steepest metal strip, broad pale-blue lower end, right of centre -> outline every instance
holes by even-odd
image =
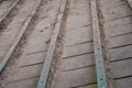
[[[99,21],[98,21],[98,14],[97,14],[97,1],[91,0],[90,2],[91,2],[94,46],[95,46],[98,88],[108,88],[108,82],[107,82],[107,77],[105,72],[105,61],[102,55],[101,40],[100,40]]]

